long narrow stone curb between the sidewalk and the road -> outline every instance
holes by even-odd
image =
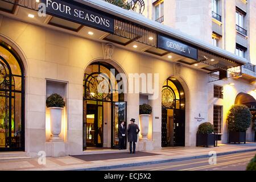
[[[218,153],[217,156],[229,155],[229,154],[237,154],[237,153],[243,153],[243,152],[251,152],[251,151],[256,151],[256,148],[247,149],[247,150],[240,150],[240,151],[221,152],[221,153]],[[166,160],[155,160],[155,161],[150,161],[150,162],[139,162],[139,163],[131,163],[131,164],[118,164],[118,165],[114,165],[114,166],[101,166],[101,167],[79,168],[79,169],[70,169],[70,170],[71,171],[101,171],[101,170],[107,170],[107,169],[145,166],[145,165],[150,165],[150,164],[180,162],[180,161],[184,161],[184,160],[201,159],[201,158],[209,158],[209,155],[198,155],[198,156],[189,156],[189,157],[184,157],[184,158],[174,158],[174,159],[166,159]]]

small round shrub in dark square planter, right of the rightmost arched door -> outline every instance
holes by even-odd
[[[196,146],[215,146],[215,135],[213,125],[210,122],[201,123],[196,134]]]

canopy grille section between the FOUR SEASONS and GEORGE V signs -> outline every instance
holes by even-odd
[[[148,46],[156,47],[156,32],[134,23],[115,19],[114,34],[139,43],[147,44]]]

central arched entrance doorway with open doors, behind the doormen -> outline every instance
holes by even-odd
[[[118,149],[118,126],[122,121],[125,121],[126,126],[126,102],[120,91],[122,78],[115,80],[117,74],[117,70],[105,62],[92,63],[86,68],[84,150],[91,147]],[[114,80],[110,81],[110,78]]]

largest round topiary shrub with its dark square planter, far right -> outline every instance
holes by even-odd
[[[246,130],[251,124],[251,113],[245,105],[233,105],[228,112],[229,143],[245,143]]]

